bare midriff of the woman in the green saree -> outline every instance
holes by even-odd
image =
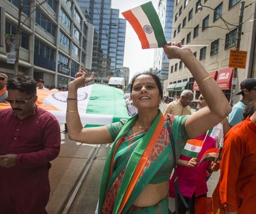
[[[165,198],[169,191],[169,182],[165,181],[158,184],[148,184],[139,197],[134,201],[136,207],[150,207]]]

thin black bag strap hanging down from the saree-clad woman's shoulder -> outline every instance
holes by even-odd
[[[167,129],[169,132],[169,137],[171,139],[171,149],[173,151],[173,168],[174,168],[174,185],[175,185],[175,213],[178,214],[178,205],[177,205],[177,194],[180,195],[180,198],[184,204],[184,206],[186,207],[186,210],[188,210],[188,203],[186,202],[184,196],[182,196],[182,193],[180,192],[180,187],[179,187],[179,183],[177,182],[177,172],[176,172],[176,153],[175,153],[175,143],[174,143],[174,139],[173,139],[173,133],[171,132],[171,128],[170,128],[170,120],[168,119],[168,125],[167,125]]]

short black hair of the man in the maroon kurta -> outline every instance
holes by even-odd
[[[16,76],[7,82],[7,90],[18,90],[29,96],[36,95],[37,82],[31,76]]]

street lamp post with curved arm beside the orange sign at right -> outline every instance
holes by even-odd
[[[214,10],[212,7],[208,7],[208,6],[201,5],[201,4],[199,5],[199,7],[197,7],[197,9],[199,11],[201,11],[201,10],[203,10],[203,7],[209,8],[209,9],[213,10],[214,12],[216,12],[216,10]],[[218,16],[221,18],[221,20],[223,20],[223,22],[225,23],[225,25],[226,25],[227,29],[229,30],[229,32],[230,32],[229,25],[231,25],[233,27],[236,27],[238,29],[238,33],[237,33],[237,36],[236,36],[236,50],[240,50],[240,42],[241,42],[241,35],[242,35],[242,20],[243,20],[243,16],[244,16],[244,8],[245,8],[244,7],[244,1],[242,1],[240,3],[240,14],[239,14],[238,25],[233,25],[233,24],[227,22],[221,16],[221,14],[218,14],[218,12],[216,12],[216,14],[218,14]],[[230,100],[229,100],[229,104],[231,106],[233,106],[233,100],[234,100],[234,97],[235,97],[236,84],[234,84],[234,83],[237,82],[237,80],[236,80],[237,76],[238,76],[238,68],[234,67],[234,69],[233,69],[233,80],[232,80],[232,85],[231,85],[231,95],[230,95]]]

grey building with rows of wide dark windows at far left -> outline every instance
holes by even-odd
[[[76,0],[3,0],[1,7],[5,8],[2,33],[16,37],[20,32],[18,63],[7,63],[8,45],[0,47],[2,72],[67,87],[81,67],[91,69],[94,26],[87,22]]]

